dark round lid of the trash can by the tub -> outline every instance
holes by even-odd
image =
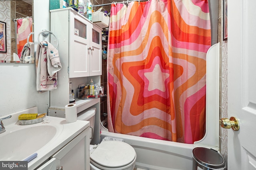
[[[224,168],[225,160],[216,150],[198,147],[192,151],[192,156],[196,162],[207,168]]]

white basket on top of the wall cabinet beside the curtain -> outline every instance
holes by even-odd
[[[92,22],[101,28],[106,28],[109,24],[109,16],[104,12],[93,12]]]

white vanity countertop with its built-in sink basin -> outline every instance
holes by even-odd
[[[37,155],[28,162],[28,170],[34,170],[49,160],[58,150],[89,127],[88,121],[77,120],[67,123],[64,118],[50,116],[46,116],[48,121],[19,125],[18,116],[22,113],[37,113],[37,107],[10,114],[12,115],[10,119],[2,121],[6,131],[0,133],[0,160],[20,161],[32,154]]]

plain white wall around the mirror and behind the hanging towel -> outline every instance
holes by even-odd
[[[34,1],[35,48],[42,29],[50,30],[49,0]],[[36,91],[35,64],[0,63],[0,117],[33,106],[47,113],[49,99],[49,92]]]

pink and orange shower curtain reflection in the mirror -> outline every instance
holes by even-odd
[[[32,18],[24,18],[17,20],[17,30],[16,30],[16,41],[17,41],[17,54],[20,58],[22,49],[27,43],[28,35],[32,32]],[[32,37],[29,38],[32,41]]]

